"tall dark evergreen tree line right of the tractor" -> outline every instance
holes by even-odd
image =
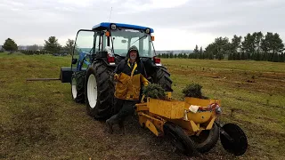
[[[217,37],[215,41],[205,48],[194,48],[193,52],[159,54],[160,58],[188,58],[188,59],[209,59],[209,60],[266,60],[274,62],[284,62],[285,49],[281,37],[277,33],[254,32],[244,36],[234,35],[229,40],[228,37]]]

